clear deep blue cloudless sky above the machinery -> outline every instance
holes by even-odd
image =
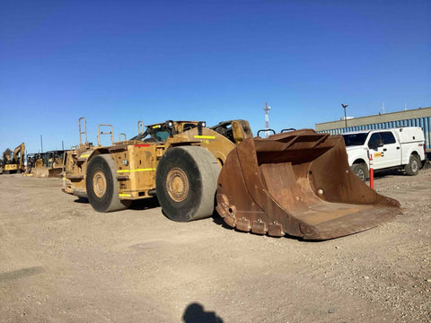
[[[2,1],[0,153],[110,123],[314,128],[431,106],[431,1]]]

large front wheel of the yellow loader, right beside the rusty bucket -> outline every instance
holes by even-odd
[[[189,222],[214,212],[220,166],[207,149],[174,147],[164,153],[156,174],[157,199],[173,221]]]

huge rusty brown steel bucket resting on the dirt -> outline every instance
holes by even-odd
[[[249,138],[229,153],[216,210],[240,231],[328,240],[401,214],[400,203],[356,177],[342,136],[303,129]]]

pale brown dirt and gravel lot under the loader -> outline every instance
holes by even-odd
[[[2,322],[431,321],[431,170],[375,180],[406,208],[322,242],[99,214],[61,179],[0,176]]]

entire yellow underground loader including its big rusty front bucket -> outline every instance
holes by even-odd
[[[306,240],[364,231],[400,214],[398,201],[352,173],[340,135],[303,129],[253,137],[246,120],[214,127],[168,120],[145,131],[139,121],[137,131],[114,142],[113,127],[99,125],[94,146],[80,118],[80,144],[66,152],[63,191],[88,197],[98,212],[157,196],[163,214],[177,222],[209,217],[216,206],[240,231]],[[101,145],[101,135],[110,135],[111,144]]]

